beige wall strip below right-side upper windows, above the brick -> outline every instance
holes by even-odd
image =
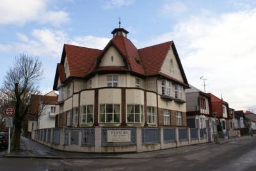
[[[177,103],[174,100],[166,101],[166,100],[163,100],[161,96],[158,96],[158,107],[166,108],[170,110],[177,110],[180,112],[186,112],[186,103]]]

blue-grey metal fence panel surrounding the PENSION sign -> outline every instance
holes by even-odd
[[[108,142],[108,131],[110,130],[128,130],[131,132],[130,142]],[[135,145],[136,144],[136,128],[102,128],[101,145],[114,146],[114,145]]]

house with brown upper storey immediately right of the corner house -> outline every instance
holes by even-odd
[[[211,117],[211,96],[189,85],[186,89],[187,123],[189,128],[212,128],[215,119]]]

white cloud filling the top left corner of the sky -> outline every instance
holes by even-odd
[[[38,22],[59,26],[68,21],[67,12],[47,10],[48,7],[48,0],[2,0],[0,25]]]

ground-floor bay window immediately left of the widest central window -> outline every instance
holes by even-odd
[[[93,105],[81,106],[81,124],[93,123]]]

